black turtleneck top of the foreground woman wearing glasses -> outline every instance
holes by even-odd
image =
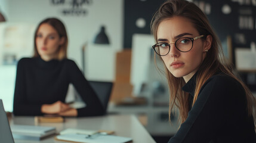
[[[194,96],[196,74],[183,86]],[[248,116],[245,90],[224,73],[215,74],[202,86],[188,117],[168,143],[256,142],[254,119]]]

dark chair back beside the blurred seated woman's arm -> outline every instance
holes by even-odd
[[[109,104],[109,98],[112,92],[112,82],[98,82],[98,81],[88,81],[95,93],[100,98],[101,104],[104,108],[104,114],[107,112],[107,105]]]

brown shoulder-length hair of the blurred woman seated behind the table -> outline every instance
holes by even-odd
[[[64,43],[62,45],[60,45],[60,47],[58,48],[58,51],[57,51],[57,60],[62,60],[63,58],[67,58],[67,41],[68,41],[67,32],[66,32],[64,24],[57,18],[47,18],[38,24],[38,27],[36,28],[36,32],[35,32],[35,36],[34,36],[34,55],[33,55],[33,57],[40,57],[40,55],[38,53],[38,49],[36,48],[36,35],[38,33],[39,27],[44,23],[47,23],[47,24],[50,24],[51,26],[53,26],[53,28],[58,32],[58,36],[60,36],[60,38],[64,38]]]

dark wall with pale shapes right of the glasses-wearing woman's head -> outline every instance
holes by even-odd
[[[256,42],[255,30],[255,17],[256,17],[256,4],[252,1],[236,2],[235,0],[202,0],[194,1],[198,6],[200,2],[211,5],[211,13],[206,14],[212,27],[215,29],[221,42],[225,42],[228,35],[232,38],[232,51],[233,55],[235,48],[249,48],[251,42]],[[224,14],[222,8],[224,5],[229,5],[231,13]],[[202,9],[202,8],[201,8]],[[240,20],[240,17],[245,18]],[[252,18],[252,29],[249,28],[248,18]],[[223,45],[224,48],[225,45]],[[235,56],[233,56],[233,63],[235,64]]]

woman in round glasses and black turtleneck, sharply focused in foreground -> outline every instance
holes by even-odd
[[[155,13],[153,49],[165,64],[172,142],[256,142],[255,98],[233,73],[206,15],[192,2],[166,1]]]

